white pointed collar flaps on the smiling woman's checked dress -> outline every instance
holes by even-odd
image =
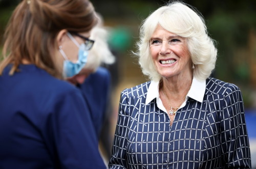
[[[193,77],[191,87],[187,93],[187,96],[199,102],[203,102],[205,89],[206,89],[206,80],[199,80],[196,77]],[[155,98],[157,98],[157,101],[160,99],[159,81],[151,81],[150,87],[148,87],[148,90],[147,90],[145,104],[150,103]]]

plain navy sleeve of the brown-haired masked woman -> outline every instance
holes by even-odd
[[[60,168],[106,168],[98,150],[98,142],[81,93],[74,89],[57,98],[48,120],[48,145]],[[57,158],[57,159],[56,159]]]

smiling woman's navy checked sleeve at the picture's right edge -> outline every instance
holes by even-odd
[[[237,86],[229,89],[224,96],[221,121],[222,159],[225,168],[251,168],[242,94]]]

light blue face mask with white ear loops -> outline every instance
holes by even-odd
[[[68,36],[70,37],[71,35],[68,33]],[[62,50],[61,46],[59,47],[59,51],[60,51],[61,55],[63,56],[63,58],[65,59],[65,61],[63,62],[63,76],[64,77],[72,77],[72,76],[78,74],[82,70],[84,65],[86,65],[87,58],[88,58],[88,50],[85,49],[86,46],[84,45],[84,43],[79,45],[73,37],[71,38],[71,40],[73,42],[75,41],[74,43],[77,46],[79,46],[78,60],[76,63],[69,61],[65,52]]]

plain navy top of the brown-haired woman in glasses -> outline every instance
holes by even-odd
[[[106,168],[74,86],[34,65],[0,76],[0,168]]]

